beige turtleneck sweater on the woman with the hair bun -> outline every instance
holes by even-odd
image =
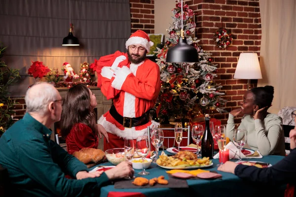
[[[282,118],[275,114],[267,114],[264,121],[254,120],[250,115],[242,118],[238,129],[247,130],[247,144],[253,150],[259,150],[265,155],[285,156],[285,137],[282,127]],[[233,140],[234,116],[229,113],[226,136]]]

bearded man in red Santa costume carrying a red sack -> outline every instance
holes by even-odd
[[[153,42],[147,33],[138,30],[125,46],[127,53],[116,51],[97,62],[98,87],[107,99],[113,100],[111,109],[98,120],[108,132],[105,150],[122,148],[124,138],[147,135],[148,126],[159,125],[149,120],[149,110],[161,87],[159,66],[146,59]]]

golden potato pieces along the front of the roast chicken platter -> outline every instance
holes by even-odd
[[[156,160],[156,164],[161,166],[179,166],[179,165],[195,165],[195,166],[203,166],[203,165],[210,165],[212,161],[208,157],[204,157],[202,159],[195,159],[195,160],[186,160],[186,159],[179,159],[168,157],[166,155],[161,155]]]

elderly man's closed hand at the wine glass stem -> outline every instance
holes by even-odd
[[[132,163],[130,162],[121,162],[120,164],[112,167],[109,170],[105,171],[106,175],[108,176],[109,180],[113,179],[120,179],[127,176],[134,176],[134,169],[132,167]]]

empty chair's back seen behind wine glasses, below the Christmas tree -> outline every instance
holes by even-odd
[[[164,134],[164,142],[165,141],[167,141],[167,144],[162,144],[162,149],[164,150],[164,146],[166,146],[167,145],[167,148],[170,148],[170,141],[172,141],[172,140],[170,140],[170,139],[173,139],[174,140],[174,143],[172,144],[172,145],[175,145],[175,128],[159,128],[159,129],[161,129],[161,130],[163,130],[164,132],[163,132],[163,134]],[[148,133],[148,142],[149,142],[149,144],[151,143],[150,142],[150,139],[151,139],[151,130],[152,129],[150,129],[149,127],[147,127],[147,133]],[[166,132],[165,132],[166,131]],[[182,141],[183,141],[183,139],[185,138],[185,139],[187,139],[187,146],[190,144],[190,135],[191,135],[191,131],[190,131],[190,126],[188,126],[188,127],[186,127],[186,128],[182,128],[182,131],[184,132],[184,131],[187,131],[187,136],[183,136],[182,137]],[[173,132],[173,134],[171,135],[171,136],[166,136],[165,134],[166,133],[169,133],[169,132]],[[167,140],[165,140],[165,139],[167,139]],[[182,142],[181,142],[182,143]],[[172,146],[171,145],[171,146]]]

